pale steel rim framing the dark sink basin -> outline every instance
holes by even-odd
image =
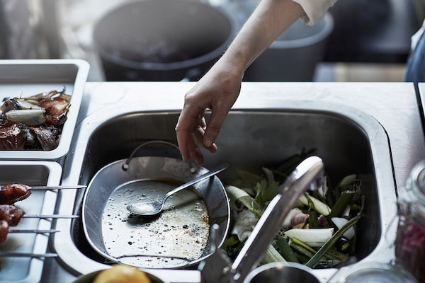
[[[115,111],[113,111],[115,113],[115,115],[108,117],[108,115],[111,114],[111,108],[113,107],[113,109]],[[119,111],[117,112],[116,110]],[[230,110],[230,112],[249,112],[249,111],[254,111],[254,112],[258,112],[258,111],[263,111],[263,112],[287,112],[287,111],[310,111],[310,112],[324,112],[326,114],[329,115],[334,115],[334,116],[338,116],[338,117],[342,117],[344,119],[348,118],[349,120],[351,120],[353,122],[353,124],[358,125],[358,127],[365,129],[366,132],[370,133],[370,134],[375,134],[375,138],[378,139],[380,141],[380,145],[379,146],[375,146],[373,144],[370,144],[370,150],[371,150],[371,154],[373,156],[374,159],[380,159],[380,161],[382,161],[382,167],[380,168],[374,168],[375,170],[375,175],[377,176],[377,180],[378,179],[382,179],[384,180],[382,183],[377,184],[378,186],[382,186],[382,187],[387,187],[386,190],[388,191],[392,191],[394,192],[394,200],[395,200],[395,180],[386,180],[386,178],[384,178],[383,176],[385,176],[385,172],[387,174],[390,174],[393,176],[394,178],[394,173],[392,172],[392,160],[391,160],[391,155],[390,155],[390,143],[388,141],[388,137],[387,137],[387,133],[385,132],[385,128],[380,124],[380,122],[378,122],[377,119],[375,119],[375,117],[373,117],[373,115],[368,114],[367,112],[364,112],[362,110],[359,110],[358,108],[354,108],[348,105],[342,105],[341,103],[331,103],[329,101],[323,102],[323,101],[317,101],[317,100],[284,100],[284,104],[283,106],[280,105],[276,105],[274,107],[264,107],[264,105],[258,105],[258,107],[252,107],[252,108],[237,108],[234,110]],[[86,131],[91,131],[93,129],[96,129],[96,127],[98,127],[99,125],[101,125],[102,122],[104,121],[104,117],[108,117],[109,119],[113,119],[113,117],[118,117],[120,115],[126,115],[126,114],[130,114],[132,112],[146,112],[146,114],[152,114],[152,112],[154,113],[173,113],[176,112],[178,113],[180,110],[179,109],[164,109],[164,110],[140,110],[140,111],[136,111],[134,109],[130,108],[116,108],[115,105],[111,106],[111,107],[106,107],[106,108],[102,108],[101,110],[99,110],[98,112],[96,112],[96,115],[90,115],[86,118],[84,118],[81,123],[79,123],[78,127],[76,127],[76,131],[80,131],[80,132],[86,132]],[[105,113],[106,116],[102,115],[102,113]],[[103,117],[103,118],[99,118],[99,117]],[[368,125],[368,120],[374,121],[373,126],[379,126],[378,128],[382,129],[382,131],[379,132],[375,132],[374,128],[372,127],[372,125]],[[75,151],[73,151],[72,153],[69,154],[68,157],[69,160],[74,159],[74,156],[78,156],[79,154],[84,154],[86,149],[86,141],[85,144],[83,146],[81,146],[81,144],[78,146],[77,149],[75,149]],[[78,158],[77,158],[78,159]],[[79,160],[79,168],[81,168],[82,166],[82,161]],[[75,164],[74,164],[75,165]],[[74,167],[74,166],[73,166]],[[66,171],[66,168],[65,168]],[[78,177],[79,177],[79,172],[65,172],[67,175],[67,178],[64,178],[64,183],[62,183],[62,185],[71,185],[73,182],[78,182]],[[378,177],[380,176],[380,177]],[[69,194],[70,192],[66,192],[67,194]],[[69,195],[66,197],[66,199],[69,200],[69,197],[72,197],[72,199],[74,199],[75,195]],[[378,193],[378,201],[380,202],[380,204],[388,204],[388,201],[385,200],[384,197],[382,197],[382,194]],[[73,210],[73,204],[70,204],[69,202],[67,203],[63,203],[65,204],[64,207],[62,207],[61,205],[61,209],[63,208],[63,210],[61,210],[61,213],[67,214],[67,213],[71,213]],[[396,214],[396,210],[394,209],[389,209],[390,211],[387,210],[387,212],[385,213],[380,213],[381,219],[381,230],[382,233],[386,230],[386,225],[392,221],[394,215]],[[380,210],[380,212],[382,212],[382,209]],[[67,221],[67,219],[61,219],[62,224],[64,225],[64,228],[67,227],[66,229],[69,229],[69,225],[67,226],[66,223],[64,223],[64,221]],[[70,223],[70,222],[69,222]],[[56,238],[56,237],[55,237]],[[69,241],[69,242],[68,242]],[[84,254],[82,254],[77,248],[75,248],[74,246],[71,247],[67,247],[69,246],[69,243],[72,243],[72,238],[70,235],[67,235],[67,241],[57,241],[55,243],[55,246],[60,245],[61,250],[57,250],[57,253],[59,253],[60,255],[62,254],[62,256],[66,256],[67,253],[69,252],[73,252],[73,253],[77,253],[78,254],[78,260],[76,260],[75,262],[71,263],[71,265],[69,265],[70,263],[67,262],[67,268],[70,268],[71,270],[73,270],[74,272],[77,272],[77,274],[79,274],[81,271],[86,274],[89,273],[93,270],[97,269],[101,269],[101,268],[105,268],[107,265],[102,265],[99,262],[96,262],[94,260],[91,260],[89,258],[87,258]],[[63,248],[63,249],[62,249]],[[380,239],[380,242],[378,243],[378,246],[375,248],[375,250],[373,251],[373,253],[371,253],[370,255],[368,255],[368,257],[366,257],[365,259],[354,263],[353,265],[349,265],[348,267],[353,267],[356,268],[356,265],[361,264],[361,262],[368,260],[368,258],[370,256],[375,257],[376,253],[379,253],[380,250],[386,248],[386,243],[385,243],[385,239]],[[81,261],[80,261],[81,260]],[[93,265],[90,267],[90,265]],[[82,268],[82,269],[81,269]],[[184,270],[187,271],[187,270]],[[327,280],[331,279],[332,277],[334,277],[334,275],[336,275],[336,272],[338,272],[337,269],[326,269],[326,270],[314,270],[313,271],[314,274],[319,277],[319,279],[321,280],[321,282],[327,282]],[[200,281],[198,281],[200,282]]]

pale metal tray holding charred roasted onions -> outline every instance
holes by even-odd
[[[0,151],[0,159],[49,160],[65,156],[77,122],[81,99],[89,74],[89,63],[81,59],[0,60],[0,98],[33,96],[45,91],[71,95],[71,105],[60,141],[51,151]]]

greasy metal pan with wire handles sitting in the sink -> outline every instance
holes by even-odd
[[[149,200],[207,169],[152,156],[135,157],[126,164],[120,160],[101,168],[84,195],[84,233],[104,258],[146,268],[186,267],[212,253],[212,224],[219,226],[220,245],[225,241],[230,208],[217,177],[193,185],[194,190],[178,192],[174,199],[171,196],[157,218],[135,216],[126,209],[130,202]]]

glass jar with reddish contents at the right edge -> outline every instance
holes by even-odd
[[[425,283],[425,161],[417,163],[399,191],[395,258],[419,283]]]

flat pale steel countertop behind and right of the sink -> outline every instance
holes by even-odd
[[[192,82],[88,82],[77,125],[102,108],[118,105],[124,96],[134,101],[132,105],[125,105],[128,112],[179,110],[184,94],[193,85]],[[396,187],[403,186],[414,164],[425,158],[421,114],[412,83],[244,82],[233,109],[278,109],[288,100],[340,103],[375,117],[390,141]],[[72,282],[75,278],[54,259],[46,260],[42,282]]]

